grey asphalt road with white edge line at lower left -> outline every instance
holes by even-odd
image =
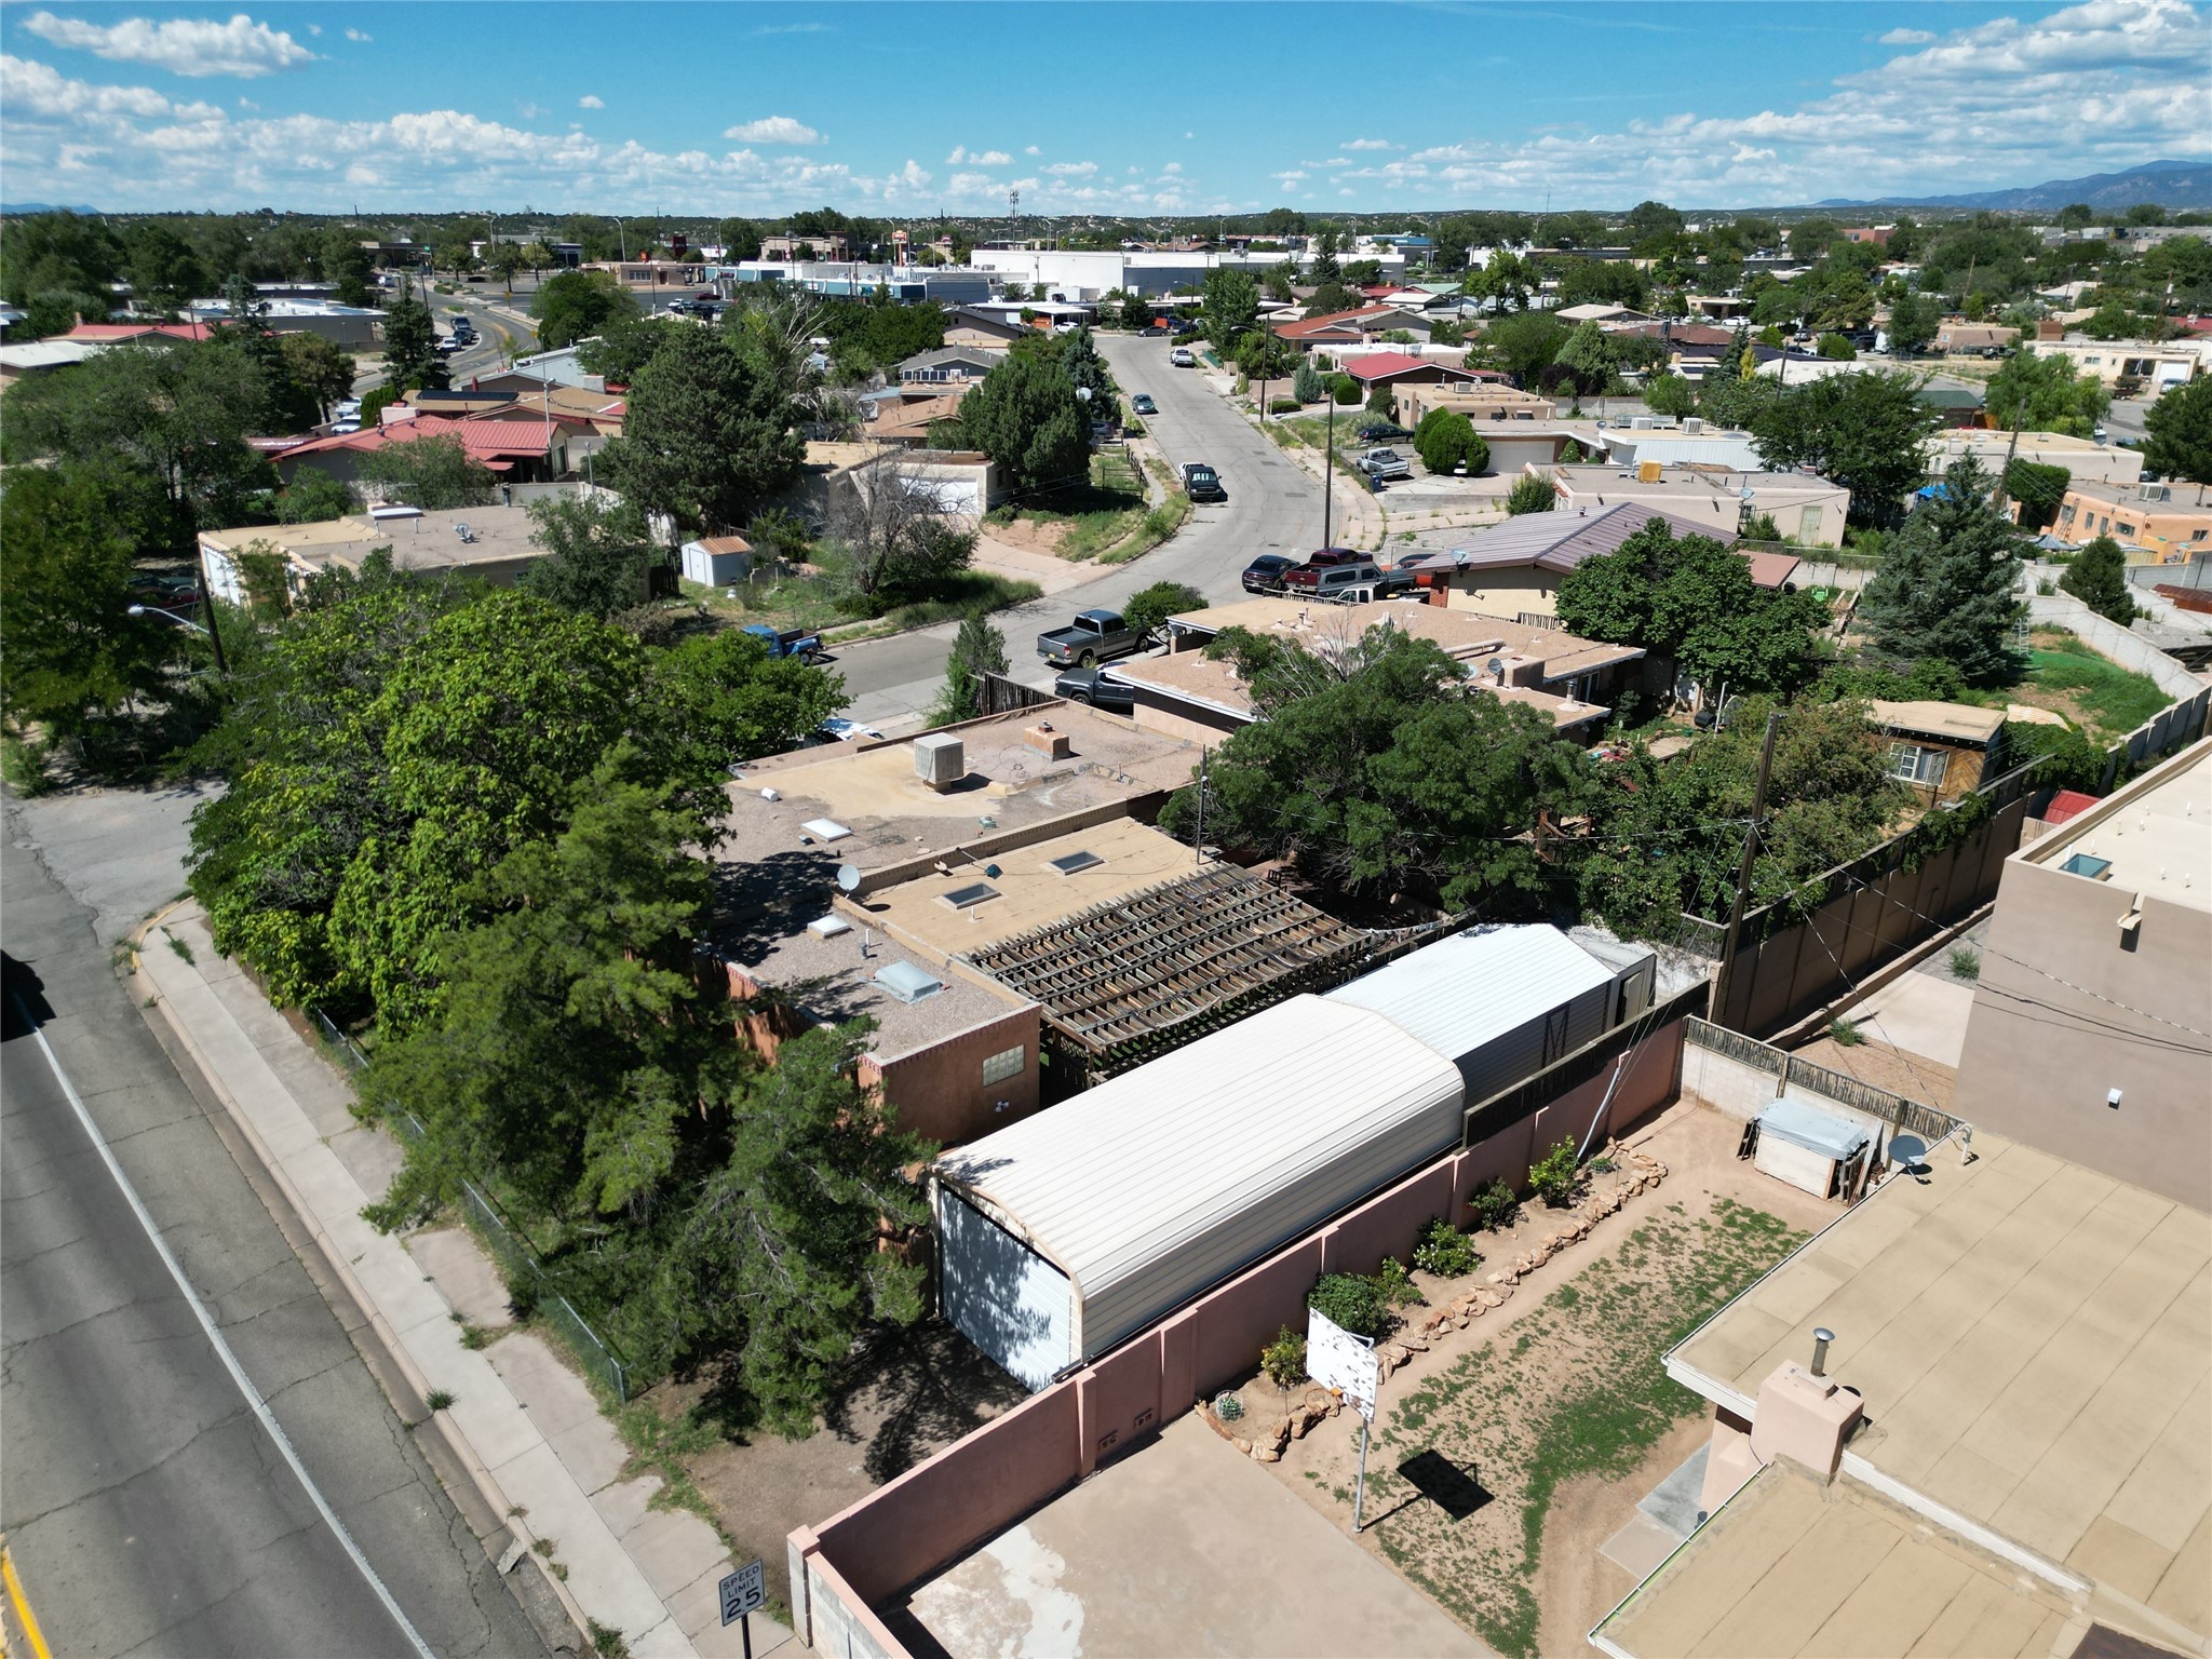
[[[544,1655],[515,1601],[542,1586],[500,1579],[115,980],[93,914],[27,834],[11,812],[7,989],[40,1022],[307,1478],[429,1650]],[[119,894],[159,876],[108,880]],[[13,995],[0,1042],[0,1531],[46,1641],[71,1659],[414,1652],[248,1407]]]

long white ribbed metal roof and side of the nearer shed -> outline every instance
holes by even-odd
[[[1451,1146],[1460,1073],[1296,995],[987,1135],[938,1172],[1077,1287],[1097,1354]]]

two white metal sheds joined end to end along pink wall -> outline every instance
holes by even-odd
[[[1042,1389],[1451,1148],[1471,1088],[1599,1035],[1639,973],[1551,927],[1460,933],[951,1152],[945,1314]]]

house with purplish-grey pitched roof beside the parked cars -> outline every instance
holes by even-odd
[[[1615,553],[1621,542],[1659,520],[1668,535],[1708,535],[1723,546],[1734,533],[1714,535],[1703,524],[1652,511],[1635,502],[1599,509],[1520,513],[1502,524],[1469,531],[1467,540],[1447,551],[1407,553],[1400,571],[1413,571],[1431,595],[1442,595],[1451,611],[1475,611],[1486,617],[1513,617],[1524,626],[1542,626],[1559,613],[1559,582],[1577,564]],[[1798,560],[1790,553],[1743,551],[1752,582],[1781,588],[1796,580]]]

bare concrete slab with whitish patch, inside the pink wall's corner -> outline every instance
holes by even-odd
[[[918,1588],[905,1617],[962,1657],[1484,1652],[1194,1413]]]

